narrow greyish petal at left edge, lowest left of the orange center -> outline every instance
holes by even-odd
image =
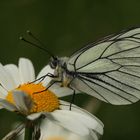
[[[13,104],[11,104],[10,102],[3,100],[3,99],[0,99],[0,105],[9,111],[17,110],[17,108]]]

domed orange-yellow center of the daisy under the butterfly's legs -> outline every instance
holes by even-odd
[[[46,88],[41,83],[26,83],[16,88],[16,90],[24,91],[31,97],[34,105],[30,110],[30,113],[52,112],[59,108],[59,100],[57,96],[50,90],[45,89]],[[8,92],[6,99],[10,103],[15,104],[13,91]]]

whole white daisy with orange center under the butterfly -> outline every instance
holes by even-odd
[[[48,65],[41,70],[37,79],[46,73],[53,74],[53,70]],[[44,114],[48,120],[77,135],[94,136],[93,131],[102,135],[103,124],[95,116],[74,105],[70,111],[70,103],[58,99],[67,95],[67,93],[64,94],[64,90],[60,90],[61,88],[45,90],[50,80],[46,77],[42,82],[33,82],[35,72],[29,59],[20,58],[18,67],[14,64],[5,66],[0,64],[1,108],[17,111],[30,120]],[[60,95],[61,92],[62,95]]]

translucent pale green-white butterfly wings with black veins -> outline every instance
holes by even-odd
[[[140,99],[140,28],[111,35],[73,54],[67,69],[76,89],[111,104]]]

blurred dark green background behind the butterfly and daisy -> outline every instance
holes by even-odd
[[[27,57],[37,72],[47,64],[49,56],[45,52],[19,40],[23,35],[32,41],[26,34],[28,29],[55,55],[70,56],[96,39],[139,25],[139,0],[0,0],[0,61],[17,64],[19,57]],[[79,95],[75,102],[85,107],[91,100],[85,96]],[[89,110],[98,108],[95,114],[105,125],[103,140],[139,139],[140,102],[112,106],[93,101]],[[0,111],[0,139],[16,118]]]

